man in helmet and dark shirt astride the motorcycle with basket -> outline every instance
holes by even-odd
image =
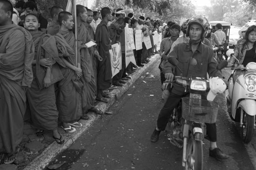
[[[180,76],[181,73],[184,77],[207,77],[207,72],[210,77],[222,78],[221,71],[217,70],[217,64],[214,60],[214,54],[212,48],[201,41],[207,34],[208,21],[205,17],[196,15],[190,18],[188,23],[188,29],[186,35],[190,37],[190,41],[187,43],[177,44],[173,51],[169,54],[169,57],[176,57],[179,61],[178,67],[172,66],[172,73],[169,80],[172,82],[174,75]],[[196,63],[190,62],[194,58]],[[181,69],[181,70],[180,70]],[[181,72],[182,71],[182,72]],[[185,92],[185,88],[174,83],[170,90],[170,95],[165,102],[165,105],[161,109],[157,126],[151,135],[151,142],[157,142],[161,131],[165,130],[173,109],[179,104],[182,97],[187,96],[188,92]],[[207,139],[210,140],[209,155],[216,159],[227,159],[228,155],[224,154],[221,149],[216,145],[216,123],[207,124]]]

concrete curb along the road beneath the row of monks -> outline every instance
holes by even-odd
[[[154,64],[155,61],[160,59],[159,54],[156,54],[150,58],[150,62],[146,64],[144,67],[140,67],[137,69],[136,72],[131,74],[132,77],[130,80],[127,81],[126,84],[122,87],[118,87],[114,90],[112,90],[112,94],[110,94],[111,98],[108,103],[104,102],[98,102],[97,105],[94,107],[94,110],[96,113],[104,114],[107,109],[110,108],[111,105],[115,103],[116,100],[118,100],[132,85],[135,83],[135,81],[141,77],[142,74],[151,66]],[[94,112],[89,112],[88,116],[90,117],[89,120],[80,120],[79,122],[83,124],[81,128],[77,128],[77,131],[74,134],[65,134],[65,143],[62,145],[57,144],[56,142],[53,142],[50,144],[47,148],[44,149],[44,151],[36,157],[33,161],[31,161],[23,170],[42,170],[45,166],[49,164],[50,161],[54,157],[57,156],[57,154],[61,153],[65,149],[69,148],[71,144],[75,142],[75,140],[81,136],[85,131],[88,130],[90,126],[92,126],[93,122],[95,122],[100,115],[96,114]],[[64,137],[64,135],[63,135]]]

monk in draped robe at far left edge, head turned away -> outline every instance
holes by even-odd
[[[0,0],[0,142],[7,153],[5,164],[15,161],[22,141],[35,50],[31,34],[13,24],[12,14],[9,0]]]

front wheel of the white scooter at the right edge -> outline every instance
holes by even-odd
[[[255,116],[248,115],[241,109],[243,114],[242,138],[243,142],[248,144],[252,140]]]

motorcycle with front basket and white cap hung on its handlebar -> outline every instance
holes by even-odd
[[[168,61],[179,69],[178,61],[174,57],[169,57]],[[220,63],[219,69],[224,68],[226,64]],[[222,83],[222,88],[218,89],[218,92],[212,92],[211,89],[216,86],[216,78],[186,78],[182,74],[174,78],[173,83],[185,87],[185,92],[189,92],[189,96],[181,99],[181,103],[169,119],[166,130],[170,143],[179,148],[183,147],[182,166],[185,170],[203,170],[204,123],[216,122],[219,105],[212,100],[216,93],[223,93],[226,89],[224,81],[221,78],[217,79],[219,84]],[[209,93],[215,96],[213,95],[211,101],[204,100]]]

